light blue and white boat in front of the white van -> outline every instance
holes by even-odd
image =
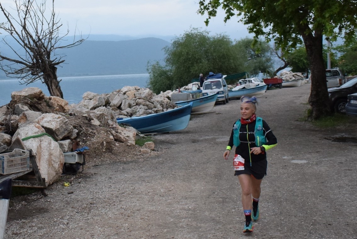
[[[177,101],[175,104],[184,106],[192,102],[191,114],[202,114],[212,110],[213,106],[215,106],[217,96],[217,94],[212,94],[192,100]]]

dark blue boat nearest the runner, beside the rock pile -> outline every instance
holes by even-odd
[[[117,118],[118,124],[129,125],[137,129],[142,134],[164,133],[185,129],[190,121],[193,103],[168,110],[161,113],[130,117]]]

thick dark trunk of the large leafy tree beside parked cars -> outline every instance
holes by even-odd
[[[310,119],[332,115],[328,100],[326,67],[322,57],[322,34],[302,34],[311,70]]]

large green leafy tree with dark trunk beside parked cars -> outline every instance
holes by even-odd
[[[311,69],[311,94],[309,103],[313,119],[330,115],[322,40],[332,42],[344,34],[350,41],[357,28],[357,2],[354,0],[200,0],[201,15],[208,14],[206,24],[217,15],[217,9],[225,10],[224,21],[237,16],[247,25],[255,37],[273,40],[284,50],[305,44]]]

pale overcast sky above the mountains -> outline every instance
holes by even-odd
[[[3,6],[13,2],[1,0]],[[225,24],[222,10],[206,28],[206,17],[197,14],[198,8],[198,0],[55,0],[56,13],[64,25],[68,22],[70,35],[77,25],[83,35],[180,36],[197,27],[212,34],[225,33],[232,39],[251,36],[237,18]],[[1,16],[0,21],[3,19]]]

